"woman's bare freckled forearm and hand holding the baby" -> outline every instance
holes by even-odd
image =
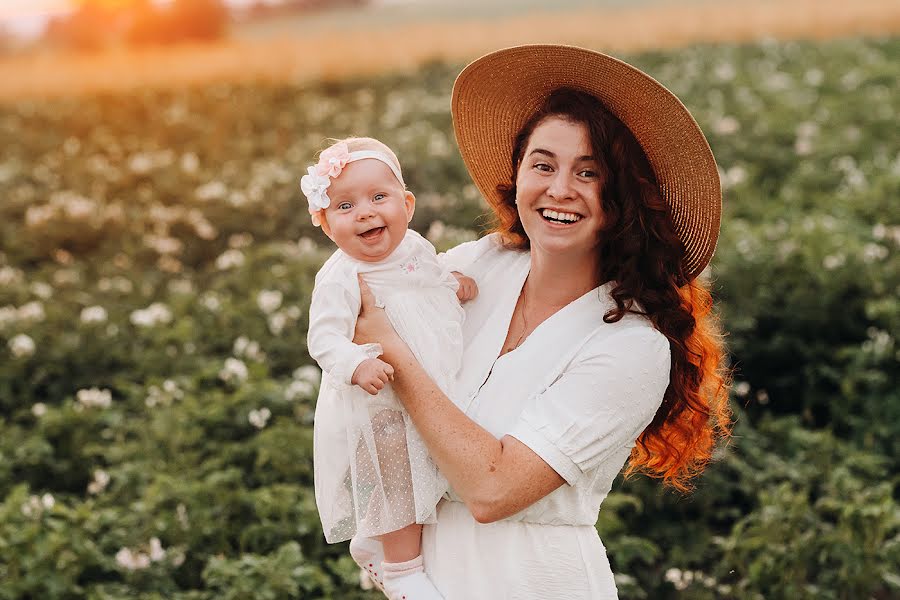
[[[565,480],[528,446],[498,440],[466,416],[434,383],[400,339],[360,278],[356,343],[378,341],[394,367],[393,387],[438,468],[481,523],[513,515]]]

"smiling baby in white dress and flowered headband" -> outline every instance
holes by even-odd
[[[460,302],[477,287],[443,268],[434,247],[408,229],[416,199],[383,143],[333,144],[300,185],[313,224],[338,247],[316,275],[309,311],[309,354],[323,371],[314,462],[325,539],[353,538],[351,554],[389,598],[441,598],[422,566],[421,524],[433,520],[447,482],[391,390],[381,347],[352,341],[357,274],[445,392],[462,355]]]

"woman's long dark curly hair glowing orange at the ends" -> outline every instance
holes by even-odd
[[[614,323],[629,312],[646,315],[669,340],[669,386],[638,437],[625,474],[642,472],[687,491],[717,442],[731,433],[730,375],[709,285],[702,277],[686,276],[684,247],[631,131],[590,94],[571,88],[551,92],[515,138],[512,180],[497,186],[493,231],[506,247],[529,248],[515,204],[516,173],[531,133],[553,116],[587,127],[599,163],[605,223],[598,239],[598,275],[601,282],[616,282],[611,291],[616,308],[603,320]]]

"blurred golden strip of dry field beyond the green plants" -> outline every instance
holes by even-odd
[[[556,42],[640,51],[772,37],[826,39],[900,33],[896,0],[709,0],[634,9],[583,9],[452,23],[305,33],[302,38],[231,40],[205,46],[123,50],[94,56],[45,53],[0,60],[0,100],[172,88],[214,81],[308,81],[464,62],[522,43]]]

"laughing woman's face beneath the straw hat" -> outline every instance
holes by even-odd
[[[562,117],[541,121],[516,174],[516,204],[535,250],[593,257],[603,225],[600,165],[588,129]]]

